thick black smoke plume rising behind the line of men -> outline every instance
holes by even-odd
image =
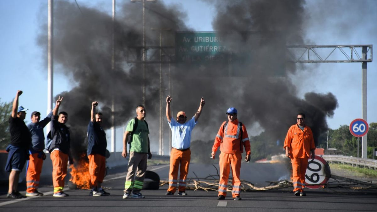
[[[225,111],[235,107],[239,120],[250,130],[259,125],[274,139],[284,139],[287,129],[296,122],[296,114],[307,114],[307,123],[317,136],[326,130],[325,117],[333,115],[337,100],[333,94],[309,93],[297,97],[297,88],[288,77],[271,77],[276,70],[284,45],[303,44],[305,11],[300,0],[212,0],[217,10],[213,28],[224,37],[231,53],[241,54],[252,49],[251,62],[233,62],[233,72],[238,77],[218,76],[227,73],[227,66],[207,67],[205,70],[172,64],[172,91],[168,88],[168,65],[163,65],[163,114],[166,95],[172,95],[173,117],[183,110],[192,117],[201,97],[206,100],[193,140],[215,138]],[[99,101],[104,114],[104,127],[110,128],[112,97],[115,103],[115,123],[121,126],[135,116],[135,106],[141,104],[143,74],[135,64],[126,61],[130,46],[142,45],[142,6],[123,1],[117,10],[115,24],[115,68],[112,69],[113,22],[109,13],[87,8],[64,0],[54,7],[54,64],[59,71],[72,79],[76,86],[59,95],[64,97],[61,111],[69,114],[69,125],[76,152],[86,150],[86,128],[92,101]],[[190,31],[185,26],[184,8],[167,6],[163,2],[147,5],[146,43],[159,44],[159,32],[150,28],[169,28],[164,32],[163,46],[174,46],[175,31]],[[198,23],[200,24],[200,23]],[[41,28],[38,43],[46,46],[46,25]],[[250,32],[257,32],[259,39],[250,39]],[[266,39],[276,33],[281,39]],[[276,36],[275,36],[276,38]],[[149,57],[158,50],[149,51]],[[277,52],[274,54],[271,52]],[[272,55],[272,56],[271,56]],[[47,57],[45,57],[47,58]],[[287,74],[296,72],[296,65],[287,63]],[[159,72],[158,65],[147,65],[146,109],[151,131],[151,149],[158,149]],[[217,77],[215,77],[217,76]],[[54,82],[59,83],[58,81]],[[163,118],[165,116],[163,115]],[[168,153],[168,131],[164,118],[165,154]],[[251,132],[249,132],[251,134]],[[118,138],[121,139],[121,138]],[[316,139],[316,138],[315,138]],[[108,142],[109,144],[109,142]],[[168,149],[168,150],[167,150]],[[198,152],[197,154],[210,154]]]

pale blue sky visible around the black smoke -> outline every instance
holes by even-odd
[[[1,101],[11,101],[17,90],[24,91],[20,104],[31,111],[47,110],[47,68],[43,49],[37,45],[40,23],[47,22],[47,0],[0,1],[0,88]],[[74,1],[72,1],[74,2]],[[81,6],[100,6],[112,12],[111,0],[77,0]],[[120,2],[118,0],[118,2]],[[199,0],[164,0],[178,4],[187,13],[185,23],[195,31],[213,31],[215,8]],[[356,2],[356,3],[355,3]],[[45,9],[43,16],[40,8]],[[377,1],[310,0],[305,5],[308,26],[305,39],[316,45],[375,45],[377,42]],[[46,40],[47,42],[47,40]],[[377,66],[368,63],[368,123],[377,122]],[[361,63],[307,64],[296,75],[288,76],[296,84],[299,96],[306,92],[332,92],[339,107],[328,118],[329,127],[339,128],[361,118]],[[69,91],[74,83],[54,73],[54,95]],[[121,128],[120,128],[121,129]],[[121,131],[121,130],[119,130]],[[117,135],[117,148],[121,134]]]

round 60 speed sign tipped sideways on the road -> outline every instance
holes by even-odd
[[[314,160],[309,157],[307,171],[305,173],[305,184],[309,189],[319,189],[322,188],[331,175],[329,164],[323,159],[316,155]]]

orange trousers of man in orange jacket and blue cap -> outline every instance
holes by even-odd
[[[232,197],[237,197],[241,194],[241,180],[239,174],[241,171],[241,154],[227,154],[220,153],[220,182],[219,182],[219,195],[227,196],[227,186],[230,169],[232,170]]]

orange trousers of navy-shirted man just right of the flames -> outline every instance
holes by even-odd
[[[89,175],[90,187],[96,187],[98,183],[103,182],[106,171],[106,158],[99,154],[90,154],[89,158]]]

